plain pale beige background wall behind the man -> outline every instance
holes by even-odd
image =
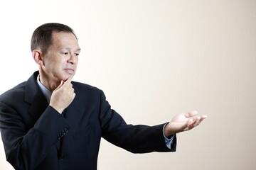
[[[97,86],[127,123],[197,110],[175,153],[131,154],[102,140],[98,169],[255,169],[255,0],[45,0],[1,3],[0,94],[37,69],[30,38],[65,23],[82,53],[75,81]],[[0,144],[0,168],[12,169]]]

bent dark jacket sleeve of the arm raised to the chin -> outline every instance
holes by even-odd
[[[6,159],[15,169],[36,169],[63,135],[70,129],[68,122],[48,106],[33,128],[28,129],[17,109],[0,103],[0,129]]]

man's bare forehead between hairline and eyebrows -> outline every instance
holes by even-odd
[[[53,31],[53,45],[58,48],[68,47],[78,49],[78,40],[73,33],[55,32]]]

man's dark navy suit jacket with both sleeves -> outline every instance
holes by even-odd
[[[48,105],[38,72],[0,96],[0,129],[6,159],[15,169],[97,169],[101,137],[129,152],[171,152],[163,125],[127,125],[100,89],[73,81],[75,99],[65,118]]]

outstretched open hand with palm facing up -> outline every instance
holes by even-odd
[[[164,135],[168,137],[178,132],[191,130],[207,118],[207,115],[196,116],[197,114],[197,111],[191,111],[176,115],[164,128]]]

